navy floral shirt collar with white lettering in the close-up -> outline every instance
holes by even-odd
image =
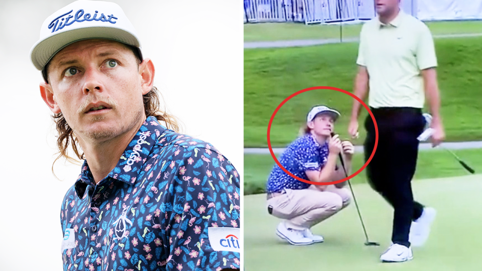
[[[147,117],[131,143],[127,146],[115,168],[106,178],[116,179],[127,184],[135,184],[139,172],[147,161],[147,157],[164,130],[166,130],[166,127],[159,124],[156,117]],[[79,198],[84,197],[88,185],[95,186],[95,183],[90,173],[87,160],[84,160],[82,171],[75,182],[75,191]]]

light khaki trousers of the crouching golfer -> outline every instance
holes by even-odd
[[[350,192],[346,188],[329,185],[324,191],[315,185],[308,189],[285,189],[281,195],[268,199],[272,215],[286,219],[286,227],[304,230],[334,215],[350,203]]]

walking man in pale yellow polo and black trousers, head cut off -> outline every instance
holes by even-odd
[[[433,115],[433,146],[444,139],[439,113],[437,59],[427,26],[400,10],[400,0],[376,0],[378,16],[360,33],[358,74],[354,93],[369,95],[369,106],[379,130],[376,153],[367,166],[368,179],[394,208],[392,245],[382,261],[413,258],[411,244],[422,245],[435,217],[433,208],[414,201],[411,180],[417,165],[418,135],[423,131],[422,108],[425,97]],[[370,89],[370,91],[369,91]],[[360,104],[355,101],[348,132],[358,132]],[[375,147],[375,126],[365,120],[365,160]]]

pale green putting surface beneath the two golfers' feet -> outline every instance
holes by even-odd
[[[414,258],[381,263],[390,244],[392,209],[366,184],[353,185],[371,241],[365,235],[355,204],[313,227],[323,243],[293,246],[275,234],[279,219],[266,211],[266,194],[244,197],[244,263],[246,270],[480,270],[482,257],[482,175],[427,179],[413,183],[416,200],[437,210],[430,238],[414,247]]]

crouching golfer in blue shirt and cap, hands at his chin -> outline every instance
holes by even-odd
[[[353,145],[331,137],[340,113],[326,106],[313,107],[307,116],[304,134],[292,142],[279,162],[293,175],[312,182],[332,182],[345,178],[336,166],[340,152],[347,172],[351,168]],[[293,245],[323,242],[310,228],[337,213],[350,202],[346,182],[335,185],[310,185],[284,172],[275,164],[267,183],[268,212],[283,219],[276,234]]]

